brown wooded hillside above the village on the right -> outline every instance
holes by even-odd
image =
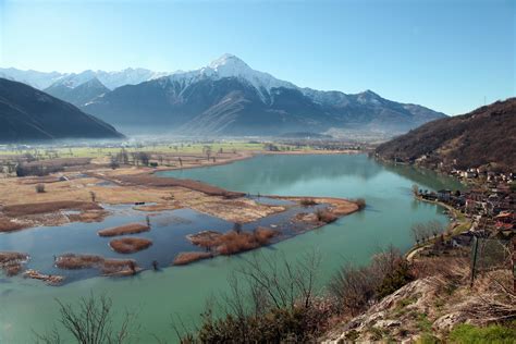
[[[377,148],[386,159],[516,170],[516,98],[427,123]]]

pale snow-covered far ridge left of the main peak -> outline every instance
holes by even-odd
[[[81,73],[45,73],[16,69],[0,69],[0,77],[21,82],[41,90],[50,86],[75,88],[94,78],[98,78],[99,82],[109,89],[114,89],[120,86],[136,85],[169,74],[170,73],[152,72],[146,69],[125,69],[116,72],[88,70]]]

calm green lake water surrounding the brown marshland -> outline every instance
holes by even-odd
[[[447,221],[442,209],[413,199],[413,184],[429,189],[462,187],[455,180],[439,176],[431,171],[405,165],[383,165],[365,155],[260,156],[226,165],[162,174],[200,180],[253,195],[365,198],[368,205],[365,211],[260,249],[266,255],[282,253],[286,258],[318,250],[322,256],[321,283],[343,262],[366,263],[371,255],[389,244],[407,250],[411,245],[409,229],[415,222]],[[202,217],[188,210],[182,210],[177,216],[186,219]],[[127,219],[137,220],[137,217],[127,213],[126,219],[109,218],[100,228],[126,222]],[[226,225],[217,219],[209,221],[212,221],[213,226]],[[189,231],[188,223],[180,222],[176,226],[168,225],[167,229],[177,231],[183,236],[184,232]],[[35,251],[48,258],[52,255],[56,242],[72,241],[71,233],[66,233],[66,230],[81,235],[81,229],[94,230],[88,225],[38,228],[14,235],[3,234],[0,235],[0,250],[9,248],[30,254]],[[96,224],[96,229],[98,228],[99,224]],[[182,245],[179,236],[172,234],[169,235],[169,245]],[[58,237],[51,237],[52,235]],[[86,238],[84,243],[88,245]],[[165,247],[160,249],[167,250]],[[100,250],[108,256],[106,247]],[[143,257],[146,255],[142,253]],[[139,335],[142,342],[153,342],[151,333],[162,339],[172,339],[171,315],[179,314],[185,319],[197,320],[206,298],[228,288],[228,275],[242,265],[242,258],[247,255],[251,254],[219,257],[187,267],[167,268],[160,272],[146,271],[135,278],[89,278],[60,287],[46,286],[38,281],[22,278],[0,277],[0,343],[33,342],[32,330],[50,330],[58,319],[57,297],[65,303],[76,302],[90,291],[107,293],[113,299],[116,311],[125,308],[138,311],[143,329]]]

